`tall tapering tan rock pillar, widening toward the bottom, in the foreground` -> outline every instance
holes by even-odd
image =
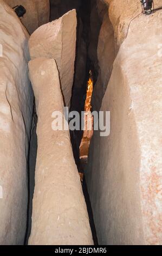
[[[38,150],[30,245],[92,245],[85,199],[68,131],[54,131],[51,115],[63,114],[55,60],[29,62],[38,115]],[[45,120],[45,121],[44,121]]]

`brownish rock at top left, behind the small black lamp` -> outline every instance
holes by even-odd
[[[49,0],[5,0],[5,2],[11,8],[16,5],[23,5],[26,13],[20,19],[30,34],[49,22]]]

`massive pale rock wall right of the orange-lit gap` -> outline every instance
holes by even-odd
[[[117,48],[122,42],[101,107],[111,111],[111,134],[94,132],[86,174],[100,244],[162,244],[162,12],[139,15],[125,39],[138,13],[138,2],[110,3]]]

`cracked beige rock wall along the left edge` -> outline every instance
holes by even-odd
[[[28,79],[28,38],[14,11],[0,1],[0,244],[24,242],[27,156],[33,93]]]

